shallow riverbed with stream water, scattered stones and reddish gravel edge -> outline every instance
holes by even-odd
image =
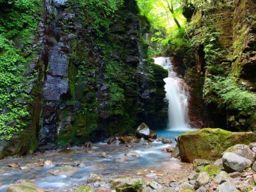
[[[154,136],[156,133],[150,133],[153,137],[144,136],[145,139],[137,132],[138,137],[109,138],[106,143],[85,143],[2,159],[0,191],[6,191],[10,184],[23,185],[24,181],[46,191],[73,191],[84,184],[98,191],[111,191],[115,189],[113,179],[118,178],[169,186],[170,180],[174,182],[188,176],[193,166],[171,158],[170,153],[175,146],[175,136],[181,132],[160,131],[158,138]],[[162,135],[168,138],[161,138]]]

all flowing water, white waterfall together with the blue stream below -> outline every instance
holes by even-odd
[[[161,176],[166,179],[170,176],[173,179],[183,172],[189,172],[188,164],[170,158],[170,153],[163,150],[175,146],[174,138],[182,132],[192,131],[188,127],[188,93],[182,86],[182,79],[173,71],[169,58],[155,58],[155,62],[169,71],[169,77],[164,81],[166,98],[169,100],[170,129],[157,131],[157,137],[170,138],[172,143],[94,143],[90,149],[80,146],[72,147],[71,150],[64,151],[65,153],[51,150],[24,157],[2,159],[0,191],[6,191],[10,184],[18,180],[33,182],[49,191],[68,191],[84,184],[92,173],[108,179],[129,176],[143,177],[147,180]],[[126,152],[136,152],[140,157],[127,157]],[[46,160],[51,160],[52,163],[44,166]],[[17,166],[9,167],[8,164]],[[104,188],[110,188],[106,185],[108,184],[105,184]]]

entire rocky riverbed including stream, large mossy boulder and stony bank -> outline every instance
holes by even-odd
[[[159,131],[156,138],[143,125],[135,135],[106,143],[3,159],[0,191],[256,191],[255,133],[202,129],[179,134]],[[228,141],[221,148],[220,138]],[[184,156],[188,142],[193,150]],[[189,163],[181,161],[184,157]]]

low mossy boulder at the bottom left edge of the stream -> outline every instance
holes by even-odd
[[[22,182],[19,184],[13,184],[8,187],[6,192],[44,192],[42,188],[38,188],[35,184],[30,182]]]

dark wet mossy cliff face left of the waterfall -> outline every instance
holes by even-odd
[[[2,140],[1,157],[134,132],[141,122],[164,127],[168,74],[147,55],[142,36],[149,26],[136,3],[118,3],[113,13],[108,6],[100,11],[101,3],[82,1],[38,6],[44,13],[38,15],[38,31],[31,33],[37,55],[31,57],[36,59],[30,107],[24,107],[28,120],[19,117],[26,122],[26,139],[17,130],[10,141]]]

